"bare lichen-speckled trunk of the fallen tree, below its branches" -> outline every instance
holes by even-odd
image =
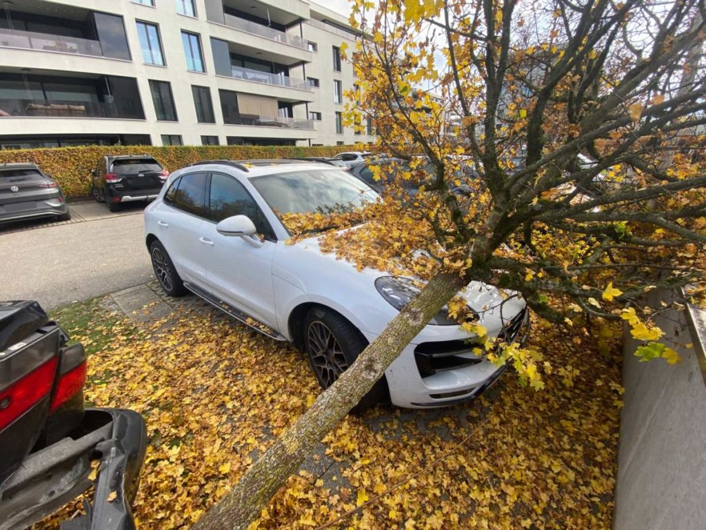
[[[455,275],[438,273],[431,278],[417,298],[318,396],[304,416],[275,441],[193,529],[245,530],[260,516],[282,483],[299,469],[316,443],[358,404],[402,349],[462,287],[462,281]]]

